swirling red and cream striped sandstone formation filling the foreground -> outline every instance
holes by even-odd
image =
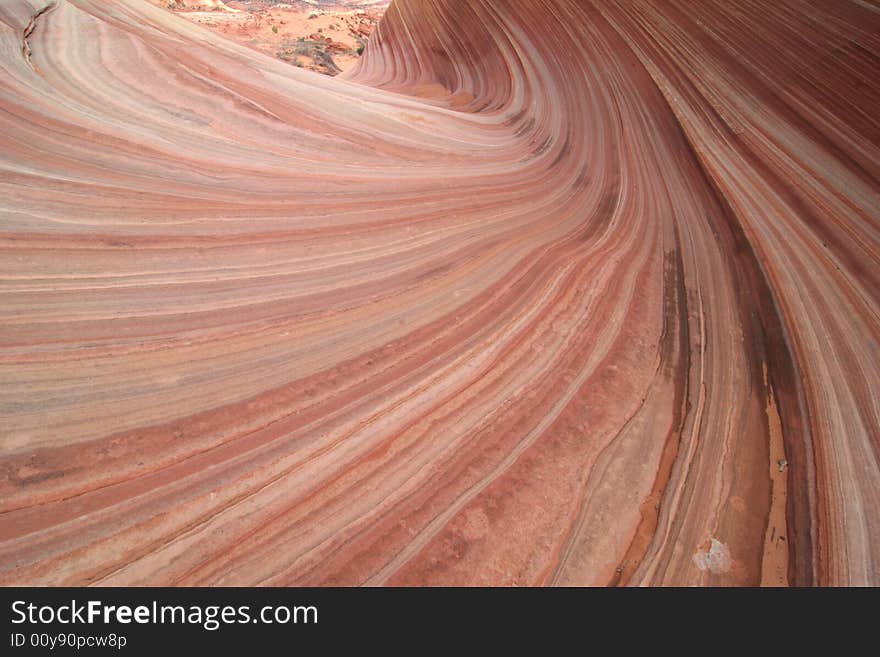
[[[0,584],[880,584],[880,12],[0,4]]]

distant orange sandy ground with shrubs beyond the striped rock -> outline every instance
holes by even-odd
[[[234,41],[325,75],[337,75],[357,62],[388,4],[151,1]]]

